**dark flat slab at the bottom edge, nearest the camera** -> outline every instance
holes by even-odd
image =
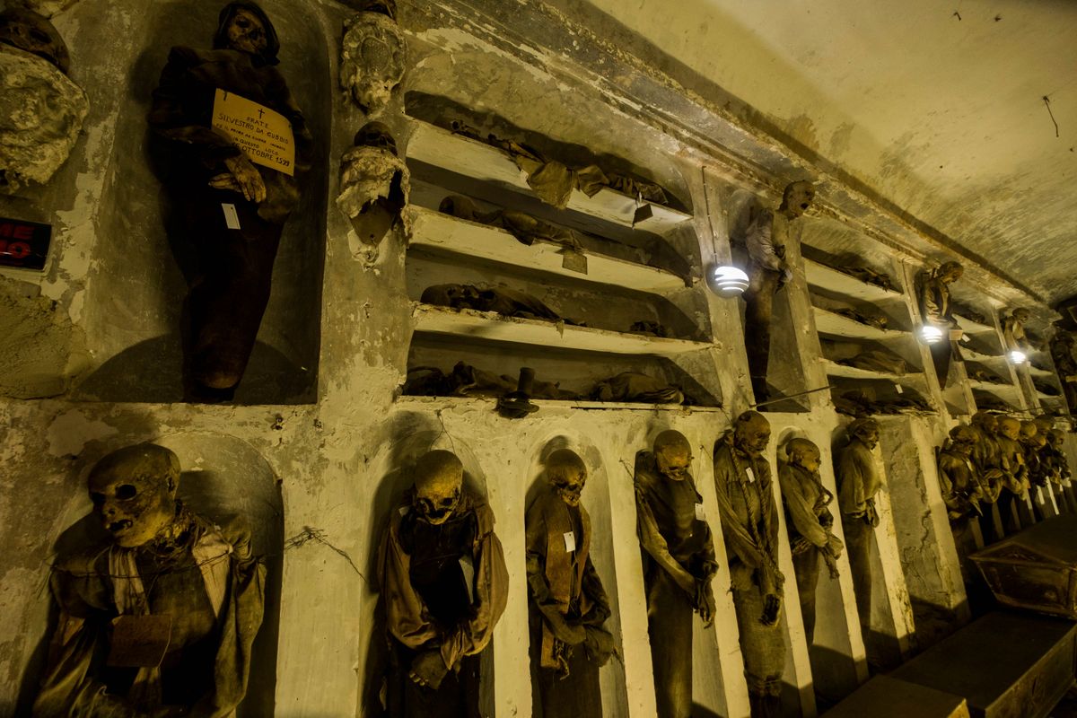
[[[945,691],[876,676],[823,718],[969,718],[965,699]]]

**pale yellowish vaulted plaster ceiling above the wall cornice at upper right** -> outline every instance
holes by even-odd
[[[589,2],[1013,284],[1077,294],[1077,3]]]

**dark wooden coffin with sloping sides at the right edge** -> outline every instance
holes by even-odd
[[[1077,516],[1033,524],[969,558],[1004,606],[1077,620]]]

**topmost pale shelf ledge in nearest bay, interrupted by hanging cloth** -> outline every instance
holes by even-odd
[[[534,194],[528,186],[527,174],[516,166],[507,152],[418,119],[412,119],[410,124],[412,132],[407,144],[408,159],[501,185],[514,192]],[[656,235],[665,235],[691,219],[690,214],[654,202],[644,205],[649,206],[651,216],[634,222],[635,212],[642,205],[638,205],[634,197],[603,187],[593,197],[574,189],[568,209]]]

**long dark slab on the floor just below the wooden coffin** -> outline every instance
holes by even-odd
[[[994,613],[890,674],[960,695],[973,716],[1045,718],[1074,681],[1077,624]]]

